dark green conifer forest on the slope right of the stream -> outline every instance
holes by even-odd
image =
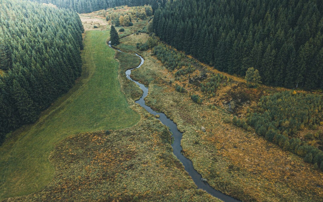
[[[214,68],[262,83],[323,88],[323,2],[178,0],[155,12],[163,41]]]

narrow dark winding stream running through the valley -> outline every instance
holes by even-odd
[[[109,47],[111,47],[111,45],[109,44]],[[119,49],[116,49],[120,52],[122,52]],[[145,61],[140,55],[138,55],[136,53],[136,56],[138,56],[141,59],[141,63],[138,67],[136,68],[140,68],[141,65],[143,64],[143,62]],[[133,68],[133,69],[136,69]],[[196,184],[196,186],[199,189],[203,189],[205,190],[207,193],[211,194],[214,197],[217,197],[223,201],[239,201],[233,197],[230,197],[228,195],[225,195],[223,193],[221,193],[220,191],[215,190],[213,187],[211,187],[207,182],[203,182],[202,181],[202,175],[200,175],[193,167],[193,163],[190,159],[186,158],[182,153],[182,146],[181,146],[181,140],[182,140],[182,134],[178,129],[177,129],[177,125],[170,120],[169,118],[166,117],[166,115],[164,113],[158,113],[153,111],[149,106],[147,106],[145,104],[145,100],[144,98],[148,95],[148,88],[145,87],[143,84],[139,83],[138,81],[132,80],[130,78],[130,74],[131,74],[131,70],[132,69],[128,69],[126,71],[126,76],[129,80],[135,82],[143,91],[143,94],[141,96],[141,98],[139,100],[136,101],[136,103],[138,103],[141,107],[145,108],[149,113],[153,114],[153,115],[159,115],[160,117],[158,118],[162,124],[166,125],[169,127],[169,131],[172,132],[172,137],[174,137],[174,143],[172,144],[172,148],[173,148],[173,153],[175,154],[175,156],[182,162],[182,164],[184,165],[185,170],[188,172],[189,175],[191,175],[194,183]]]

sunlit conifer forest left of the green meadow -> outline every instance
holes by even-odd
[[[80,76],[84,30],[76,12],[48,5],[2,0],[0,13],[2,142],[5,133],[35,122]]]

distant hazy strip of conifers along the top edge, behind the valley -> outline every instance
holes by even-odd
[[[116,6],[143,6],[151,5],[153,11],[159,6],[164,6],[166,0],[32,0],[39,3],[54,4],[61,8],[76,10],[78,13],[90,13],[101,9]]]

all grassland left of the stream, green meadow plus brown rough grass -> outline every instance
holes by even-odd
[[[1,148],[1,199],[220,201],[197,189],[167,128],[134,103],[141,90],[124,72],[139,58],[116,52],[117,62],[107,38],[87,31],[77,85]]]

